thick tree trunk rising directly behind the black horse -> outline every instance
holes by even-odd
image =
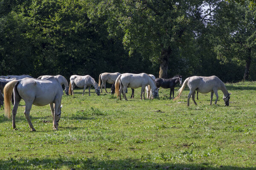
[[[170,47],[168,49],[163,49],[161,52],[159,78],[163,78],[163,79],[168,78],[167,72],[168,72],[170,54],[171,54]]]

